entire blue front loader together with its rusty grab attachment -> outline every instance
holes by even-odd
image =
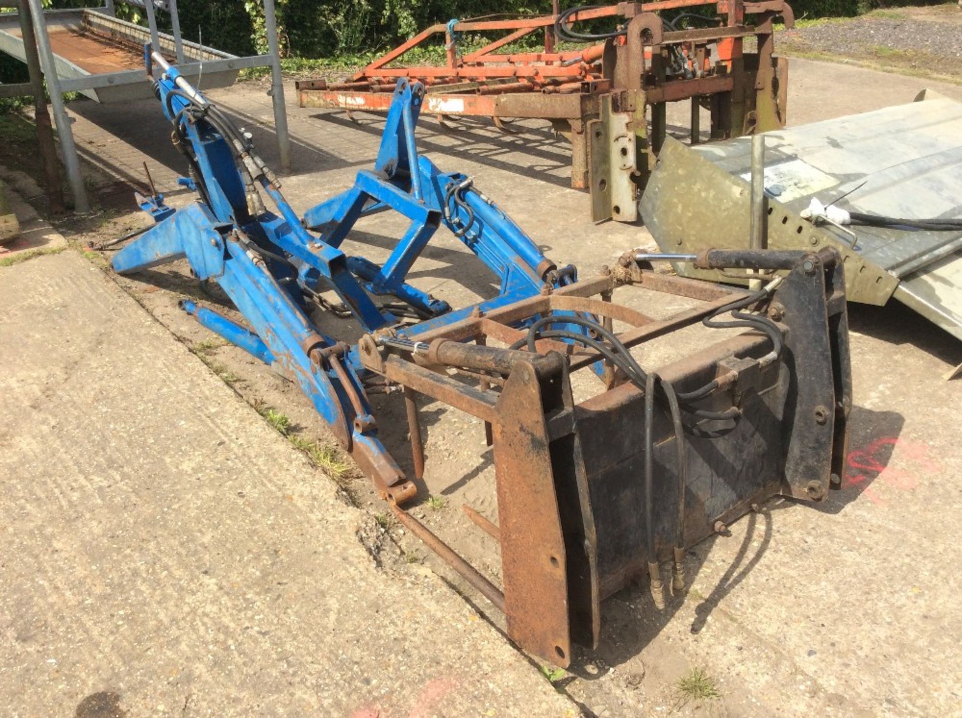
[[[174,210],[160,195],[140,197],[157,223],[115,255],[114,269],[186,258],[198,279],[215,281],[245,326],[191,301],[183,309],[299,385],[404,526],[504,611],[521,648],[568,665],[572,644],[597,644],[602,603],[620,587],[648,576],[663,607],[662,562],[678,594],[685,548],[720,522],[776,494],[819,501],[837,483],[851,389],[834,251],[668,258],[751,271],[763,285],[750,292],[654,272],[648,261],[666,258],[633,252],[580,279],[468,178],[418,156],[425,94],[404,79],[374,170],[300,217],[250,136],[176,67],[148,59],[160,65],[153,82],[190,166],[182,184],[197,199]],[[390,259],[342,252],[353,224],[378,211],[410,222]],[[494,296],[451,308],[407,284],[442,226],[497,277]],[[332,310],[321,292],[340,297],[359,341],[317,328],[311,312]],[[652,318],[633,309],[651,292],[697,301]],[[696,324],[713,329],[691,356],[649,365],[646,342]],[[386,387],[403,391],[415,479],[424,471],[418,396],[484,422],[497,523],[475,520],[500,542],[500,585],[405,510],[415,483],[380,442],[367,398]]]

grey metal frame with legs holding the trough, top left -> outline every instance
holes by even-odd
[[[63,150],[63,164],[66,169],[67,181],[70,186],[74,200],[74,210],[85,212],[89,211],[89,198],[87,189],[84,186],[83,177],[80,170],[80,160],[77,155],[76,143],[70,129],[70,118],[63,103],[63,93],[71,91],[83,91],[90,93],[100,89],[114,90],[124,86],[142,86],[142,70],[125,70],[120,72],[110,72],[102,74],[90,74],[81,68],[66,62],[54,53],[48,32],[48,19],[56,19],[67,15],[78,15],[83,13],[96,13],[106,21],[111,18],[120,32],[136,32],[139,26],[127,23],[114,18],[114,0],[106,0],[106,5],[102,8],[85,9],[82,11],[44,11],[41,0],[17,0],[18,3],[29,3],[33,19],[33,29],[39,50],[39,61],[43,75],[47,82],[50,93],[50,101],[54,111],[54,122],[57,127],[57,134],[60,137]],[[291,139],[288,134],[287,110],[284,105],[284,86],[281,77],[281,63],[278,54],[277,40],[277,20],[274,11],[274,0],[263,0],[266,22],[266,35],[269,52],[266,55],[255,55],[250,57],[235,57],[226,53],[219,53],[202,45],[187,42],[181,34],[180,17],[177,12],[177,0],[117,0],[128,5],[134,5],[143,9],[146,13],[149,26],[149,37],[152,47],[159,48],[176,60],[183,71],[189,77],[204,73],[211,77],[215,73],[233,73],[232,78],[242,68],[249,67],[270,67],[271,70],[271,89],[270,94],[274,109],[274,130],[277,134],[277,143],[280,153],[281,167],[285,170],[291,166]],[[15,7],[7,0],[5,3],[9,7]],[[172,35],[165,35],[158,29],[157,9],[170,12]],[[0,34],[2,36],[3,34]],[[13,37],[6,40],[13,42]],[[0,51],[13,54],[13,45],[0,37]],[[22,46],[23,40],[20,40]],[[185,47],[193,53],[199,53],[200,62],[186,62],[188,53]],[[206,60],[204,54],[215,53],[222,56],[221,59]],[[25,61],[26,62],[26,61]],[[71,77],[63,77],[64,70],[68,71]],[[231,80],[233,82],[233,79]],[[0,86],[0,96],[12,97],[32,93],[31,84]],[[93,95],[94,98],[96,95]]]

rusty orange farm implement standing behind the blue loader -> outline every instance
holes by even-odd
[[[605,18],[615,19],[617,28],[575,30]],[[488,116],[502,129],[516,118],[550,120],[570,139],[571,186],[591,190],[593,219],[633,222],[666,136],[668,103],[691,101],[693,143],[699,141],[700,108],[711,111],[712,139],[784,126],[788,61],[773,55],[776,18],[786,27],[794,23],[782,0],[658,0],[451,20],[412,37],[346,82],[298,82],[298,103],[387,111],[394,84],[406,78],[426,88],[425,111],[442,117]],[[543,50],[512,49],[541,32]],[[500,37],[462,53],[463,35]],[[407,52],[437,36],[445,40],[445,64],[401,63]],[[743,47],[747,37],[755,40],[753,51]],[[556,48],[556,39],[571,49]]]

